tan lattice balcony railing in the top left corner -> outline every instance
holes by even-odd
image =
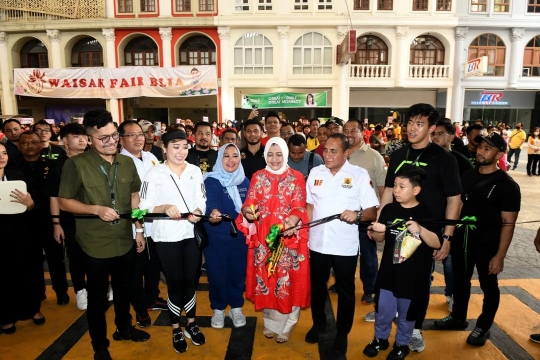
[[[105,0],[2,0],[0,22],[102,19]]]

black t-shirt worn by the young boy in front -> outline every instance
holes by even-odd
[[[421,220],[429,219],[430,217],[430,210],[423,204],[418,204],[412,208],[404,208],[400,203],[393,202],[382,209],[379,222],[388,226],[395,221],[409,218]],[[421,222],[420,225],[422,225]],[[422,226],[437,235],[440,233],[436,225],[424,224]],[[426,292],[429,292],[429,276],[431,274],[434,249],[422,241],[422,244],[420,244],[409,259],[401,264],[394,264],[393,257],[396,236],[404,229],[405,225],[386,229],[383,256],[377,275],[376,286],[377,288],[391,291],[397,298],[419,300],[425,297]],[[439,239],[441,239],[440,236]]]

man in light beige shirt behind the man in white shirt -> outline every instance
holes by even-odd
[[[364,142],[364,126],[360,121],[347,121],[343,127],[343,133],[351,145],[349,162],[367,170],[371,186],[375,189],[377,197],[380,197],[384,192],[386,179],[384,158]],[[378,269],[377,244],[367,236],[367,227],[363,227],[360,231],[360,280],[364,288],[364,295],[362,295],[364,304],[375,302],[375,281]]]

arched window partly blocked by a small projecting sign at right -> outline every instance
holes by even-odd
[[[504,76],[504,58],[506,46],[495,34],[482,34],[475,38],[469,45],[467,60],[488,57],[488,72],[485,75]]]

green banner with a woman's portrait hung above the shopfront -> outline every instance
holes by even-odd
[[[318,93],[268,93],[242,96],[242,109],[326,107],[326,91]]]

